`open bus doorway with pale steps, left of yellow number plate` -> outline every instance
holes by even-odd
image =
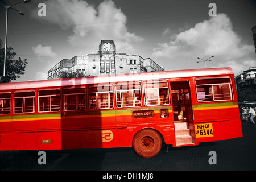
[[[176,146],[193,144],[193,111],[189,81],[171,82]]]

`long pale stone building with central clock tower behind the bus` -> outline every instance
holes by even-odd
[[[150,58],[144,59],[139,55],[117,53],[113,40],[101,40],[98,53],[61,60],[49,69],[47,79],[59,78],[58,75],[61,71],[79,71],[85,76],[99,76],[164,71],[164,68]]]

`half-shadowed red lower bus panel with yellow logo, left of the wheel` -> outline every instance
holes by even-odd
[[[66,114],[61,121],[63,149],[127,147],[126,125],[130,116],[122,116],[122,127],[117,126],[115,119],[115,114],[108,111]]]

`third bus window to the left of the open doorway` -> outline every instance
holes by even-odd
[[[113,86],[94,86],[89,88],[90,109],[110,109],[114,107]]]

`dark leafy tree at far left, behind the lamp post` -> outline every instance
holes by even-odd
[[[25,69],[27,67],[27,59],[22,60],[20,57],[15,60],[16,52],[13,51],[12,47],[7,47],[6,49],[6,65],[5,65],[5,77],[3,78],[3,60],[5,56],[5,47],[3,47],[3,42],[0,40],[0,76],[2,79],[0,82],[11,82],[12,80],[17,80],[20,75],[24,75]]]

